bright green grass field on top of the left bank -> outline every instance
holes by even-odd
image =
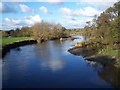
[[[27,41],[27,40],[33,40],[33,38],[31,38],[31,37],[2,38],[2,39],[0,39],[0,45],[5,46],[8,44],[12,44],[14,42],[21,42],[21,41]]]

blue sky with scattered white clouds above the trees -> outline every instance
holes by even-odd
[[[117,0],[2,0],[0,30],[32,26],[41,21],[67,29],[83,28]]]

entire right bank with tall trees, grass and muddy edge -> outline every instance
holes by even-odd
[[[99,16],[95,16],[92,21],[86,22],[86,26],[80,31],[74,32],[87,38],[85,38],[85,42],[78,45],[81,46],[80,48],[73,48],[69,51],[91,61],[109,62],[120,67],[119,7],[120,1],[107,8]]]

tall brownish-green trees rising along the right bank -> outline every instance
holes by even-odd
[[[87,44],[118,49],[120,44],[120,1],[107,8],[100,16],[95,15],[92,21],[87,21],[86,26],[79,30],[71,31],[89,38]]]

